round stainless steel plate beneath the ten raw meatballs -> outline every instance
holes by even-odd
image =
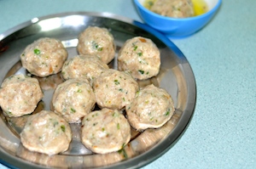
[[[79,124],[71,125],[73,141],[67,152],[60,155],[42,155],[25,149],[20,144],[19,133],[29,115],[7,118],[0,109],[0,162],[19,168],[136,168],[144,166],[163,155],[176,143],[189,124],[195,108],[195,77],[187,59],[180,50],[162,34],[147,25],[108,13],[66,13],[34,18],[0,35],[0,82],[13,74],[27,74],[20,64],[20,54],[26,46],[40,37],[60,39],[67,48],[69,58],[77,53],[78,36],[89,25],[106,27],[112,32],[119,48],[127,39],[136,36],[148,37],[160,48],[160,74],[147,81],[163,87],[172,95],[175,115],[159,129],[144,132],[132,131],[131,142],[119,152],[96,155],[85,149],[80,142]],[[116,68],[114,59],[110,67]],[[52,93],[62,82],[59,74],[38,78],[44,89],[44,99],[38,110],[49,110]]]

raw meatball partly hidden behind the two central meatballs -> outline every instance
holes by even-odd
[[[66,60],[61,73],[64,79],[86,78],[92,82],[107,69],[108,65],[95,56],[78,55]]]

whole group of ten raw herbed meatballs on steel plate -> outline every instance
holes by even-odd
[[[160,51],[150,39],[133,37],[120,48],[118,70],[108,63],[115,55],[113,35],[89,26],[79,35],[79,55],[67,59],[67,50],[55,38],[40,38],[28,45],[20,60],[33,76],[61,72],[50,110],[30,115],[20,132],[21,144],[31,151],[55,155],[72,141],[70,123],[81,123],[81,142],[94,153],[123,149],[137,131],[162,127],[174,113],[172,97],[153,84],[140,88],[160,71]],[[0,88],[0,105],[9,117],[32,114],[44,92],[38,79],[23,74],[9,76]],[[100,109],[95,110],[95,107]]]

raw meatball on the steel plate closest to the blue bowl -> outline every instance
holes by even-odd
[[[139,80],[156,76],[160,70],[160,51],[150,39],[133,37],[119,50],[118,68],[131,71],[131,76]]]

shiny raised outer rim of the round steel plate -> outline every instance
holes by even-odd
[[[173,129],[173,132],[171,134],[169,134],[167,136],[167,138],[165,138],[165,140],[163,140],[162,144],[164,144],[164,146],[162,146],[161,149],[157,149],[157,146],[155,146],[153,149],[149,149],[148,151],[150,151],[150,152],[158,151],[158,153],[156,153],[157,155],[154,155],[154,156],[151,155],[150,158],[148,158],[148,156],[146,157],[146,154],[142,154],[142,155],[137,155],[136,157],[129,159],[127,161],[120,161],[118,164],[113,164],[111,166],[102,166],[100,168],[108,168],[108,167],[120,168],[121,165],[125,166],[125,168],[137,168],[137,167],[145,166],[148,163],[156,160],[161,155],[165,154],[168,149],[171,149],[172,146],[177,142],[177,140],[183,135],[183,132],[189,126],[189,122],[191,121],[192,116],[194,114],[195,102],[196,102],[196,84],[195,84],[195,76],[194,76],[193,70],[191,69],[191,66],[189,65],[188,60],[185,58],[183,53],[176,47],[176,45],[174,43],[172,43],[166,36],[164,36],[160,32],[155,31],[153,28],[149,27],[148,25],[140,23],[136,20],[131,20],[129,18],[119,16],[117,14],[80,11],[80,12],[66,12],[66,13],[60,13],[60,14],[49,14],[49,15],[46,15],[43,17],[38,17],[37,19],[38,19],[38,21],[40,21],[40,20],[46,20],[46,19],[53,18],[53,17],[64,17],[64,16],[68,16],[68,15],[90,15],[90,16],[97,16],[97,17],[105,17],[105,18],[109,18],[109,19],[113,19],[113,20],[124,21],[131,25],[137,25],[141,29],[153,34],[155,37],[160,38],[160,40],[162,42],[166,43],[166,46],[168,46],[169,48],[172,48],[172,50],[174,50],[174,52],[182,60],[180,65],[182,65],[184,68],[183,73],[184,73],[185,79],[189,80],[189,85],[187,87],[188,87],[188,93],[191,93],[191,94],[189,95],[188,102],[186,105],[186,109],[185,109],[186,112],[183,113],[183,115],[180,117],[180,120],[178,121],[177,126]],[[4,31],[2,34],[0,34],[0,42],[4,38],[8,37],[10,34],[14,33],[15,31],[19,31],[20,29],[22,29],[28,25],[32,25],[34,23],[36,23],[36,22],[32,22],[32,20],[28,20],[24,23],[21,23],[20,25],[16,25],[15,27],[10,28],[8,31]],[[172,144],[168,144],[168,142],[172,142]],[[16,168],[17,163],[19,164],[19,166],[20,165],[21,166],[28,165],[30,167],[37,166],[36,164],[30,163],[28,161],[22,161],[18,157],[13,157],[12,155],[8,155],[6,152],[3,152],[3,151],[4,150],[2,148],[0,148],[0,154],[1,154],[0,162],[3,163],[3,165],[5,165],[5,166],[9,166],[10,168]],[[12,161],[12,162],[15,161],[17,163],[15,166],[12,166],[9,163],[9,161]],[[133,163],[133,164],[131,164],[131,163]],[[45,166],[39,166],[39,167],[42,168]],[[47,167],[45,167],[45,168],[47,168]]]

